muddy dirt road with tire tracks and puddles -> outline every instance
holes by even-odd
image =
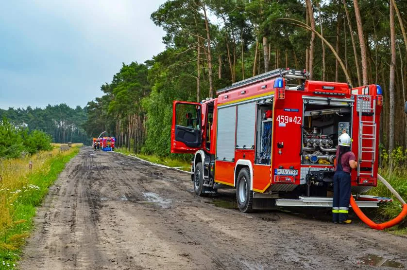
[[[192,191],[185,173],[83,148],[38,209],[20,268],[407,268],[406,237],[283,212],[242,214],[227,209],[232,190]]]

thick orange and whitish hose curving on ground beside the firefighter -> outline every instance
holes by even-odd
[[[381,175],[377,175],[377,178],[390,190],[390,192],[394,195],[394,197],[396,197],[403,204],[402,211],[398,216],[396,216],[395,218],[393,218],[390,221],[380,223],[380,224],[376,224],[369,217],[367,217],[365,214],[363,214],[363,212],[360,210],[359,206],[357,206],[356,201],[355,201],[355,199],[353,198],[352,195],[351,195],[351,201],[350,202],[351,202],[352,209],[356,213],[356,215],[363,222],[365,222],[369,227],[371,227],[373,229],[376,229],[376,230],[384,230],[386,228],[390,228],[390,227],[392,227],[394,225],[397,225],[398,223],[400,223],[403,220],[403,218],[405,216],[407,216],[407,204],[403,200],[403,198],[401,198],[401,196],[389,184],[388,181],[386,181]]]

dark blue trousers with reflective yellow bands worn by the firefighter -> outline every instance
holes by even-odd
[[[334,175],[334,201],[332,204],[332,220],[334,222],[348,219],[350,198],[351,174],[337,170]]]

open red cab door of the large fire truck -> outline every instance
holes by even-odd
[[[173,102],[171,153],[193,154],[202,148],[201,111],[200,103]]]

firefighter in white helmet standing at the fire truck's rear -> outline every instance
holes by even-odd
[[[336,167],[334,174],[334,201],[332,221],[339,224],[351,224],[348,219],[351,198],[351,171],[356,169],[355,154],[351,151],[351,137],[344,130],[338,138]]]

